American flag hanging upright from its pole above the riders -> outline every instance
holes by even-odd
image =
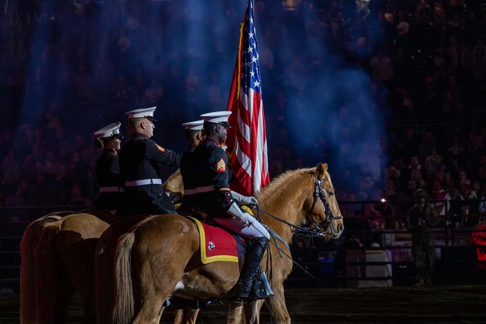
[[[228,119],[231,129],[226,152],[231,170],[239,180],[239,184],[232,184],[232,189],[250,195],[270,182],[253,13],[253,0],[248,0],[240,27],[240,47],[226,109],[232,111]]]

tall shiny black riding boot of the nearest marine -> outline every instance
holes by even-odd
[[[246,252],[242,269],[238,297],[248,297],[253,286],[253,278],[260,267],[261,259],[268,246],[268,239],[265,237],[256,238]]]

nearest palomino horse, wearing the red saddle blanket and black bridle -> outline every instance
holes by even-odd
[[[286,222],[262,215],[263,222],[288,243],[293,237],[288,223],[313,222],[311,228],[324,239],[338,238],[344,230],[327,164],[287,171],[262,189],[258,200],[262,209]],[[239,279],[238,264],[204,265],[199,246],[196,224],[180,215],[148,217],[123,234],[116,253],[113,321],[156,324],[162,302],[171,294],[199,299],[231,297]],[[286,247],[283,249],[290,254]],[[267,255],[273,257],[262,260],[262,268],[271,273],[274,297],[270,307],[277,310],[278,323],[290,323],[283,281],[290,273],[292,260],[279,258],[275,246],[271,251]],[[244,305],[246,323],[259,322],[260,303]]]

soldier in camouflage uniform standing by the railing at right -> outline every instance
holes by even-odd
[[[439,218],[435,208],[427,204],[424,189],[417,190],[415,200],[417,203],[407,213],[407,230],[412,234],[412,254],[418,272],[415,286],[431,286],[435,255],[432,229],[438,224]]]

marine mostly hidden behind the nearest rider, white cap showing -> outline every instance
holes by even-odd
[[[196,196],[196,186],[191,172],[191,156],[194,149],[203,140],[203,122],[204,119],[191,121],[182,124],[185,127],[185,134],[189,141],[189,146],[182,154],[180,162],[180,172],[182,176],[182,183],[184,184],[184,196],[182,196],[182,203],[179,206],[179,213],[189,214],[193,205],[193,200]]]

